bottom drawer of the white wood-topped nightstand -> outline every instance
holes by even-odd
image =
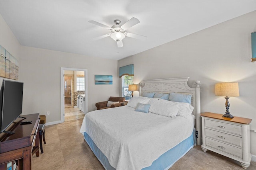
[[[232,154],[239,158],[243,157],[242,149],[227,145],[225,143],[221,143],[218,141],[214,141],[212,139],[205,138],[205,145],[208,147],[212,147],[214,149],[221,150],[222,152],[226,152],[228,154]]]

